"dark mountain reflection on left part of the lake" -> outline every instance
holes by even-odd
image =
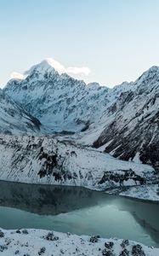
[[[45,215],[57,215],[105,201],[105,195],[79,187],[0,181],[0,205]]]

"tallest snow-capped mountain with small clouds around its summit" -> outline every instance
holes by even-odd
[[[26,72],[26,79],[9,81],[4,91],[54,131],[81,131],[86,124],[98,122],[106,106],[129,90],[125,86],[112,96],[111,89],[60,74],[53,65],[42,61]]]

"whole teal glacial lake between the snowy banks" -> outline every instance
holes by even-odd
[[[127,238],[159,247],[159,204],[83,188],[1,181],[0,227]]]

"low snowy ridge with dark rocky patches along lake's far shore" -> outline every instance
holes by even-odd
[[[111,189],[156,183],[151,166],[117,160],[57,137],[0,137],[0,179]]]

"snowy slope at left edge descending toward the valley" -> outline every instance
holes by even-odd
[[[0,133],[32,134],[39,129],[40,122],[0,90]]]

